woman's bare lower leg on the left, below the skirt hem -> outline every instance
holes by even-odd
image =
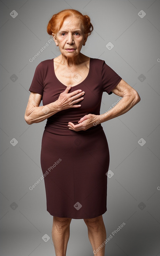
[[[53,216],[52,240],[56,256],[66,256],[71,218]]]

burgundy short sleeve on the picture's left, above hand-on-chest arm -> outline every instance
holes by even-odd
[[[44,69],[43,69],[42,62],[40,62],[36,67],[35,74],[33,76],[33,80],[29,88],[29,91],[37,92],[40,95],[43,95],[43,89],[44,89],[43,77],[44,77]]]

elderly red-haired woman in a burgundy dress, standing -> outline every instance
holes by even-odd
[[[56,256],[66,255],[72,218],[84,219],[93,253],[105,255],[102,214],[107,211],[109,150],[101,123],[124,114],[140,100],[104,60],[81,53],[92,30],[89,16],[77,10],[53,15],[47,32],[61,54],[37,66],[25,111],[29,125],[47,119],[40,159]],[[122,99],[100,115],[103,92]]]

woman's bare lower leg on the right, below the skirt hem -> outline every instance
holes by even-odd
[[[93,253],[96,256],[105,256],[104,241],[106,240],[106,228],[102,215],[92,219],[84,219],[84,222],[88,228],[88,237],[93,248]],[[102,247],[101,244],[103,245]],[[99,251],[96,251],[96,249]]]

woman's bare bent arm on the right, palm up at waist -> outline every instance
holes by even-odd
[[[112,92],[122,97],[122,99],[111,110],[101,115],[85,115],[78,121],[78,125],[74,125],[73,123],[69,122],[69,129],[74,131],[87,130],[92,126],[96,126],[99,123],[103,123],[126,113],[140,101],[138,92],[123,79],[119,82],[119,84],[117,84]]]

